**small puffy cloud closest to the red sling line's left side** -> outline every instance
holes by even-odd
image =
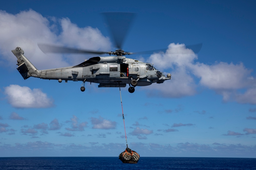
[[[103,117],[95,118],[91,117],[91,123],[93,129],[115,129],[116,122],[103,119]]]

